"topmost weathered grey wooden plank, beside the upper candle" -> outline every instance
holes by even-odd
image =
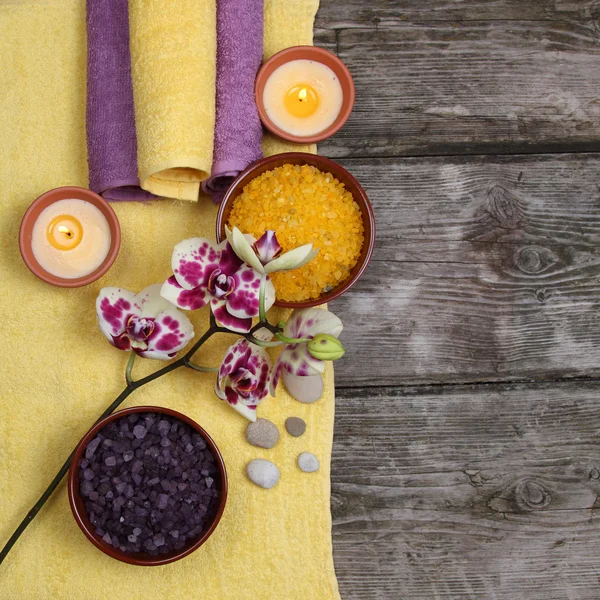
[[[335,48],[329,29],[316,42],[337,51],[357,90],[348,123],[321,153],[600,149],[597,2],[371,4],[346,13],[330,2],[319,13],[319,24],[339,29]]]

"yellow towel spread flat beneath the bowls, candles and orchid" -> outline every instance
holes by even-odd
[[[297,25],[290,22],[288,29]],[[85,54],[83,0],[0,4],[5,73],[0,93],[0,545],[123,388],[127,355],[112,348],[96,327],[99,289],[139,290],[161,281],[170,274],[175,243],[213,235],[210,203],[118,204],[123,244],[101,281],[64,290],[38,281],[26,269],[17,233],[28,204],[49,188],[87,182]],[[192,318],[200,333],[206,311]],[[217,364],[227,341],[211,342],[198,362]],[[160,364],[140,360],[135,374]],[[228,467],[230,495],[210,540],[171,565],[119,563],[81,533],[61,485],[0,565],[2,600],[339,599],[329,511],[331,369],[325,396],[316,404],[300,404],[283,390],[265,400],[259,413],[282,432],[273,450],[245,442],[244,419],[214,396],[212,385],[210,375],[180,370],[136,391],[126,403],[172,407],[216,440]],[[285,433],[283,424],[291,415],[306,420],[303,437]],[[296,456],[305,450],[321,460],[318,473],[303,474],[296,467]],[[281,481],[272,490],[254,486],[245,476],[245,465],[257,457],[281,469]]]

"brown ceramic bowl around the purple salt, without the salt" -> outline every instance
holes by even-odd
[[[219,468],[219,475],[215,478],[215,484],[219,487],[219,506],[217,508],[217,512],[213,517],[213,521],[210,526],[205,529],[202,534],[193,542],[190,542],[187,546],[184,546],[181,550],[174,550],[169,554],[162,554],[160,556],[153,556],[151,554],[146,553],[125,553],[121,552],[118,548],[107,544],[104,540],[98,537],[94,533],[94,526],[91,524],[87,511],[85,510],[84,499],[79,493],[79,470],[80,464],[83,460],[84,452],[87,445],[92,441],[95,435],[108,423],[112,421],[116,421],[122,417],[126,417],[132,413],[161,413],[165,415],[169,415],[170,417],[174,417],[187,423],[194,431],[197,431],[206,441],[208,447],[212,450],[217,466]],[[221,516],[223,515],[223,511],[225,510],[225,503],[227,501],[227,471],[225,470],[225,463],[223,462],[223,457],[217,448],[217,445],[213,441],[213,439],[196,423],[192,421],[189,417],[169,408],[163,408],[162,406],[135,406],[133,408],[126,408],[125,410],[120,410],[116,413],[105,417],[98,421],[83,437],[83,439],[75,448],[75,453],[73,454],[73,460],[71,461],[71,467],[69,468],[69,481],[68,481],[68,494],[69,494],[69,503],[71,505],[71,510],[73,511],[73,516],[77,521],[79,527],[85,534],[85,536],[96,546],[100,548],[102,552],[108,554],[112,558],[116,558],[122,562],[129,563],[131,565],[139,565],[139,566],[158,566],[165,565],[170,562],[174,562],[191,554],[194,550],[197,550],[204,542],[211,536],[212,532],[216,529],[219,521],[221,520]]]

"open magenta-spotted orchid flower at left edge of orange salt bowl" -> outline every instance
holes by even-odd
[[[210,302],[219,325],[238,333],[250,331],[252,318],[259,314],[261,274],[244,264],[228,242],[183,240],[173,250],[171,266],[174,274],[162,286],[163,298],[187,310]],[[265,310],[274,302],[275,288],[267,278]]]

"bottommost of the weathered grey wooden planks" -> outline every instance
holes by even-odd
[[[342,597],[597,599],[599,392],[338,389]]]

